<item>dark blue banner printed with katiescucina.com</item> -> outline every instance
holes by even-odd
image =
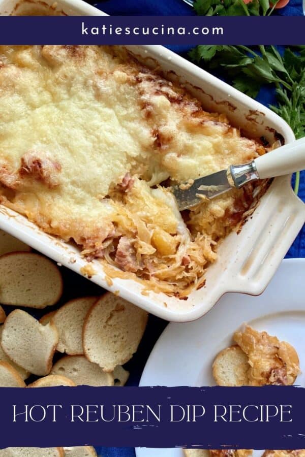
[[[0,17],[5,45],[303,45],[303,17]]]

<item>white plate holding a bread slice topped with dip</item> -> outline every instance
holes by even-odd
[[[171,322],[151,352],[140,385],[215,385],[211,364],[243,322],[291,343],[305,386],[305,259],[286,259],[259,297],[228,293],[202,318]],[[256,452],[258,457],[261,453]],[[137,457],[182,457],[181,449],[136,449]]]

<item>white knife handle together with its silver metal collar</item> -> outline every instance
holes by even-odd
[[[250,164],[231,165],[230,172],[238,189],[256,179],[275,178],[305,169],[305,138],[285,144],[254,159]]]

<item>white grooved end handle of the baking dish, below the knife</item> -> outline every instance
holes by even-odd
[[[304,224],[305,205],[291,189],[289,176],[273,181],[253,219],[255,223],[246,222],[237,241],[235,260],[227,269],[231,276],[227,278],[231,284],[227,291],[262,293]],[[259,228],[253,230],[253,226]]]

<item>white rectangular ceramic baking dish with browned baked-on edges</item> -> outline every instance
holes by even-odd
[[[31,14],[30,6],[34,5],[34,0],[26,3],[26,13]],[[104,15],[82,0],[59,0],[56,5],[52,0],[46,0],[39,5],[52,7],[52,11],[55,8],[58,14]],[[0,0],[0,14],[14,14],[16,11],[22,14],[16,0]],[[250,136],[264,136],[270,143],[279,137],[283,137],[286,143],[294,140],[292,130],[278,115],[168,49],[130,46],[129,50],[148,65],[157,61],[167,76],[185,84],[205,109],[225,113],[232,124],[240,126]],[[273,180],[240,233],[231,233],[219,247],[217,262],[207,270],[205,286],[193,291],[188,300],[167,297],[164,293],[150,292],[147,295],[142,293],[141,284],[133,280],[109,280],[97,260],[90,264],[94,270],[90,280],[171,321],[201,317],[226,292],[259,295],[305,221],[305,205],[293,193],[290,180],[290,176]],[[87,263],[77,247],[43,233],[26,218],[4,206],[0,206],[0,227],[79,274],[92,270],[84,268]]]

